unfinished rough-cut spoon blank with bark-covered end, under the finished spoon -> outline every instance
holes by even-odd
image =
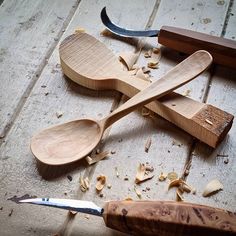
[[[149,85],[123,71],[113,53],[91,35],[67,37],[59,53],[65,75],[82,86],[115,89],[132,97]],[[218,145],[233,122],[231,114],[174,92],[146,106],[211,147]]]

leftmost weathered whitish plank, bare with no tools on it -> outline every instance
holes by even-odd
[[[6,135],[78,3],[4,1],[0,6],[0,136]]]

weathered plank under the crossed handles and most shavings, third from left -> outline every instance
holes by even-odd
[[[211,11],[214,11],[215,8],[219,9],[215,1],[210,3],[205,1],[202,4],[205,7],[202,7],[202,5],[198,6],[197,1],[162,1],[152,28],[156,29],[168,24],[188,29],[199,27],[199,31],[207,33],[210,33],[211,29],[214,28],[217,35],[220,35],[224,22],[224,17],[221,16],[226,14],[225,8],[222,8],[219,12],[220,17],[212,14],[211,22],[213,22],[214,26],[211,25],[208,28],[208,24],[204,24],[201,21],[205,17],[203,12],[207,12],[209,9]],[[228,2],[225,4],[227,5]],[[190,19],[194,24],[189,24],[189,21],[185,19]],[[204,30],[201,30],[201,27]],[[156,39],[146,39],[146,42],[145,48],[156,46]],[[152,71],[154,79],[160,77],[183,58],[183,56],[172,50],[163,49],[160,68]],[[138,64],[144,65],[145,63],[146,60],[141,55]],[[191,91],[190,96],[201,101],[203,100],[208,79],[209,74],[205,73],[199,76],[196,81],[187,84],[178,91],[182,93],[189,89]],[[144,148],[148,138],[152,139],[152,144],[149,152],[146,153]],[[99,162],[96,168],[92,167],[90,171],[85,172],[84,177],[89,176],[91,178],[92,189],[83,194],[82,197],[83,199],[95,197],[94,201],[99,203],[114,198],[124,199],[131,197],[138,199],[134,191],[137,167],[139,163],[149,162],[155,169],[155,176],[153,179],[137,186],[137,189],[142,193],[142,199],[175,200],[175,191],[167,192],[168,181],[159,182],[158,176],[161,172],[168,173],[173,170],[181,176],[192,144],[192,138],[188,134],[180,131],[163,119],[159,117],[144,119],[140,114],[132,113],[119,121],[119,123],[113,125],[109,137],[104,141],[103,149],[113,150],[115,154],[111,155],[108,160]],[[116,177],[115,167],[118,168],[119,178]],[[107,176],[107,183],[112,184],[111,189],[105,188],[103,190],[104,196],[102,199],[99,197],[99,194],[96,195],[94,189],[96,177],[99,174],[105,174]],[[79,226],[77,228],[79,230]]]

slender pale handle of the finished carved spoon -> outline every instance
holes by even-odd
[[[162,78],[152,83],[126,103],[121,105],[101,122],[106,129],[114,122],[129,114],[139,106],[143,106],[152,100],[166,95],[170,91],[186,84],[194,79],[212,63],[212,56],[204,50],[197,51],[187,59],[179,63]]]

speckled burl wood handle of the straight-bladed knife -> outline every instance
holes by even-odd
[[[133,235],[235,235],[236,213],[191,203],[111,201],[106,226]]]

